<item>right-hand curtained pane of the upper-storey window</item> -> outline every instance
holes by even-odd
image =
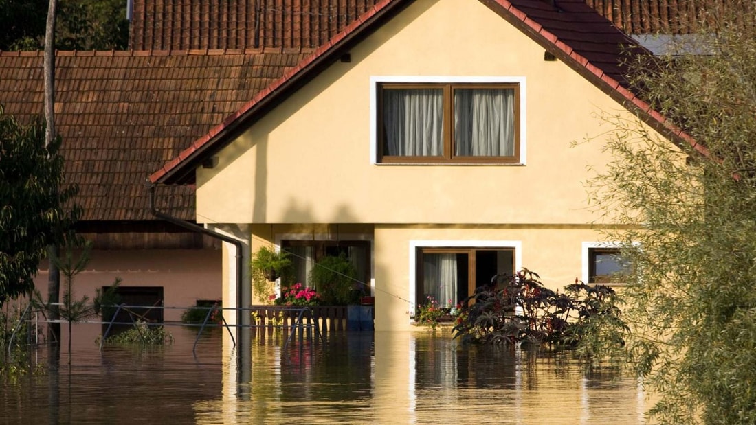
[[[513,88],[454,90],[454,155],[514,156]]]

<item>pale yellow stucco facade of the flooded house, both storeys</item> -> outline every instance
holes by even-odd
[[[547,286],[582,278],[582,243],[601,240],[584,183],[609,158],[600,137],[573,142],[608,131],[602,112],[628,112],[480,2],[418,0],[350,54],[197,170],[198,222],[251,224],[253,251],[336,240],[322,223],[370,235],[376,331],[414,328],[413,241],[517,242],[516,266]],[[371,79],[396,76],[522,82],[524,165],[371,162]]]

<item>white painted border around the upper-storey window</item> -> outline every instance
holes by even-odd
[[[371,75],[370,76],[370,164],[372,165],[395,165],[383,164],[378,161],[378,86],[381,83],[513,83],[519,85],[519,160],[514,164],[525,165],[527,158],[527,88],[525,76],[443,76],[443,75]],[[439,164],[433,164],[439,165]],[[448,164],[454,165],[454,164]],[[494,164],[476,164],[494,165]]]

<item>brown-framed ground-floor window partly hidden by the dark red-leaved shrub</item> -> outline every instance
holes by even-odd
[[[513,248],[417,248],[417,306],[456,306],[497,274],[514,273]]]

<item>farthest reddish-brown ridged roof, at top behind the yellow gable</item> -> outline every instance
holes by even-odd
[[[533,0],[549,2],[550,0]],[[555,0],[556,5],[562,0]],[[584,0],[630,35],[684,34],[726,0]],[[134,0],[132,50],[317,48],[378,0]]]

